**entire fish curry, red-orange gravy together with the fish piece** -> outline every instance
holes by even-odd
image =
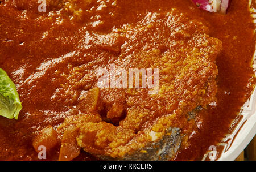
[[[0,117],[0,160],[38,160],[40,146],[47,160],[199,160],[255,85],[246,0],[226,14],[191,0],[4,0],[0,30],[0,68],[23,106]],[[141,69],[158,70],[156,93]]]

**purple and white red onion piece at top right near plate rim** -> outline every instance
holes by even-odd
[[[197,7],[209,11],[209,12],[219,12],[221,14],[226,14],[226,10],[229,6],[229,0],[192,0]]]

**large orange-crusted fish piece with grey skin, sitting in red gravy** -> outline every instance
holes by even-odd
[[[115,56],[118,67],[127,71],[158,68],[158,93],[149,95],[148,88],[93,88],[80,104],[100,104],[101,108],[92,111],[79,106],[84,114],[68,117],[60,130],[75,126],[77,145],[103,160],[170,160],[195,127],[193,109],[205,108],[215,100],[215,60],[221,41],[210,37],[204,24],[175,10],[148,12],[138,23],[123,25],[117,33],[126,37]],[[121,109],[112,107],[117,103]],[[118,125],[108,118],[113,109],[119,111],[118,117],[125,111]],[[94,117],[97,120],[90,120]]]

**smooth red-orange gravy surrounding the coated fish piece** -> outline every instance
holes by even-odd
[[[88,30],[101,33],[125,23],[135,23],[138,16],[148,11],[171,11],[172,8],[177,8],[190,18],[204,23],[209,28],[209,35],[221,40],[222,50],[216,61],[216,105],[209,106],[197,114],[199,130],[193,132],[189,137],[190,144],[181,149],[175,160],[200,159],[210,145],[221,141],[228,132],[230,123],[253,91],[255,78],[251,61],[255,51],[255,25],[251,20],[246,0],[233,0],[226,15],[199,10],[189,0],[152,0],[150,3],[147,0],[118,1],[122,8],[115,10],[119,10],[119,15],[109,17],[115,14],[111,14],[108,8],[98,13],[97,18],[101,18],[104,24],[90,18],[90,15],[81,16],[79,9],[63,13],[67,16],[62,17],[68,20],[57,19],[57,14],[51,13],[51,10],[65,9],[58,5],[62,1],[47,1],[49,8],[46,12],[38,12],[38,3],[33,0],[0,2],[0,68],[3,68],[16,84],[23,105],[18,121],[0,117],[0,160],[38,160],[32,147],[34,136],[44,127],[57,127],[63,123],[65,115],[58,112],[68,111],[68,105],[75,104],[79,95],[76,92],[68,93],[67,100],[58,100],[58,94],[52,96],[56,91],[55,85],[42,82],[51,76],[56,85],[60,84],[58,71],[50,71],[49,74],[40,71],[64,61],[69,56],[81,58],[81,52],[74,51],[72,54],[72,50],[81,36],[77,28],[82,28],[88,21],[91,22]],[[49,16],[47,19],[46,15]],[[42,39],[46,41],[40,41]],[[51,46],[48,46],[47,42]],[[50,57],[60,58],[46,62]],[[90,59],[81,58],[81,61],[86,63]],[[56,74],[50,74],[51,72]],[[53,101],[49,103],[49,100]],[[58,153],[59,148],[53,149],[49,152],[47,160],[57,160]],[[82,152],[75,160],[95,159]]]

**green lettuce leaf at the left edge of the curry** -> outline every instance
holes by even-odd
[[[0,68],[0,115],[9,119],[18,119],[21,109],[22,104],[13,81]]]

